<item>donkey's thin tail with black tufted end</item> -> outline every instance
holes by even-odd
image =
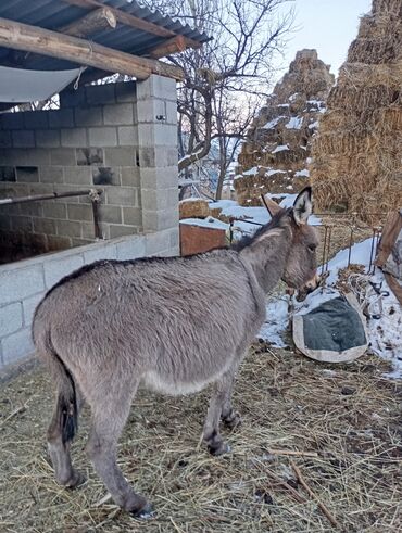
[[[58,389],[58,398],[49,433],[59,434],[63,444],[71,442],[78,430],[77,392],[73,375],[52,346],[50,334],[37,335],[33,328],[34,341],[39,357],[49,367]],[[48,435],[51,440],[52,434]]]

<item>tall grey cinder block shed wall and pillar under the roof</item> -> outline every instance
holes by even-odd
[[[92,187],[104,191],[104,239],[178,228],[173,80],[83,87],[61,93],[58,111],[0,115],[0,198]],[[0,206],[0,246],[41,253],[93,239],[87,196]]]

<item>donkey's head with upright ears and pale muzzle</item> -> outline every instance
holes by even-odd
[[[266,198],[263,200],[272,216],[280,212],[285,215],[285,210],[276,202]],[[292,230],[292,242],[281,279],[292,289],[309,287],[310,290],[313,290],[317,285],[316,248],[318,236],[314,227],[307,224],[312,208],[312,189],[306,187],[297,196],[293,206],[287,211]]]

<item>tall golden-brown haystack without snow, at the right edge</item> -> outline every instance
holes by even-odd
[[[402,205],[402,0],[374,0],[361,20],[312,148],[321,210],[343,205],[378,224]]]

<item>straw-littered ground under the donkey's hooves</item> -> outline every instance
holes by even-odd
[[[120,465],[154,504],[147,521],[104,502],[84,452],[88,413],[73,447],[88,481],[56,485],[45,443],[52,384],[26,371],[0,384],[0,531],[402,531],[402,383],[387,370],[374,356],[335,366],[254,346],[234,396],[243,423],[219,458],[199,444],[208,392],[141,392]]]

